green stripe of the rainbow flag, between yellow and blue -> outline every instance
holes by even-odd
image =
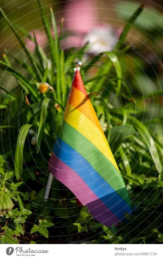
[[[83,156],[94,170],[131,206],[129,196],[126,196],[125,185],[120,172],[96,146],[64,120],[60,138]]]

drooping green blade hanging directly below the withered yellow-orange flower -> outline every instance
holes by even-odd
[[[49,103],[50,99],[45,98],[43,99],[43,102],[41,104],[41,114],[40,114],[40,121],[39,121],[39,128],[37,132],[37,143],[36,143],[36,152],[39,153],[41,141],[43,139],[43,132],[45,127],[45,119],[46,119],[46,110],[47,105]]]

